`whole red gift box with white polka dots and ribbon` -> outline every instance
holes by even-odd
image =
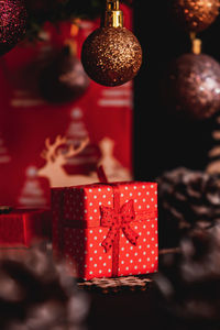
[[[53,188],[52,211],[55,257],[76,266],[79,278],[157,271],[155,183]]]

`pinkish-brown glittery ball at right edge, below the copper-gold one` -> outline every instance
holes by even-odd
[[[220,109],[220,65],[205,54],[184,54],[168,72],[164,88],[180,114],[207,119]]]

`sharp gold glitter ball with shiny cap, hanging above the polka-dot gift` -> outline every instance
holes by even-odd
[[[103,23],[84,42],[81,64],[87,75],[103,86],[120,86],[133,79],[142,64],[142,47],[123,26],[118,0],[107,0]]]

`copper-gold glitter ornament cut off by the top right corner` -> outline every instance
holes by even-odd
[[[172,0],[175,22],[187,32],[201,32],[219,15],[219,0]]]

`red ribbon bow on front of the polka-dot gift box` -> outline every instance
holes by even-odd
[[[133,245],[136,245],[139,234],[130,227],[130,222],[134,221],[135,219],[134,204],[132,199],[119,208],[118,211],[114,208],[105,206],[100,207],[100,211],[101,226],[110,228],[107,238],[101,243],[106,252],[111,249],[120,229],[122,229],[129,242]]]

